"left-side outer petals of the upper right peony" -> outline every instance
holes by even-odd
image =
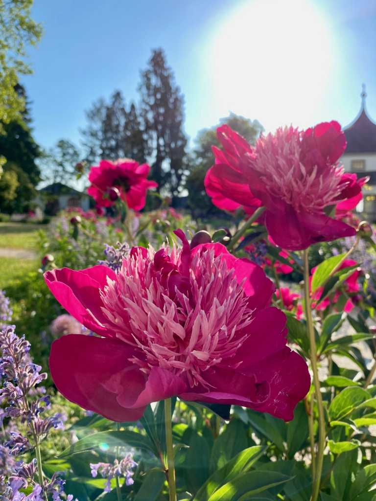
[[[252,155],[253,148],[228,125],[219,127],[217,136],[224,151],[212,147],[216,163],[205,176],[206,191],[220,209],[234,211],[243,206],[253,214],[262,205],[249,188],[248,155]]]

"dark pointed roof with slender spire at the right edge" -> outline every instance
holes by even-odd
[[[365,107],[367,94],[364,84],[360,97],[361,106],[357,117],[343,129],[347,140],[345,155],[349,153],[376,153],[376,124],[369,117]]]

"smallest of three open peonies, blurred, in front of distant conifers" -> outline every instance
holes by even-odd
[[[154,181],[148,181],[150,166],[147,163],[141,165],[129,158],[122,158],[111,162],[101,160],[99,166],[91,167],[89,181],[91,186],[87,192],[97,204],[110,207],[112,202],[103,195],[111,187],[119,190],[121,198],[126,201],[128,207],[141,210],[145,206],[146,192],[149,188],[156,188]]]

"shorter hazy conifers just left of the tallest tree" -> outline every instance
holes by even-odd
[[[90,164],[99,159],[133,158],[145,162],[146,141],[133,103],[126,108],[120,91],[107,104],[103,98],[86,112],[88,127],[82,130]]]

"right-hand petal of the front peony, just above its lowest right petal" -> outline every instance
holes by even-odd
[[[286,315],[274,306],[261,310],[249,327],[250,336],[231,359],[224,359],[229,366],[248,367],[286,346]]]

